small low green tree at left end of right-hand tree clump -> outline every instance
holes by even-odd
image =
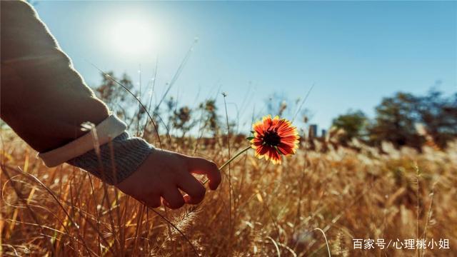
[[[342,129],[344,133],[338,138],[340,143],[346,145],[352,138],[363,138],[366,136],[366,126],[368,119],[362,111],[349,110],[333,119],[332,126]]]

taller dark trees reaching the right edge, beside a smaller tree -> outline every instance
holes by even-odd
[[[419,134],[421,124],[433,143],[445,148],[448,141],[457,137],[457,94],[445,97],[432,89],[426,96],[397,93],[384,98],[376,107],[376,118],[369,127],[371,141],[391,141],[396,147],[421,148],[425,135]]]

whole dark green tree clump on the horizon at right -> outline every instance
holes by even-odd
[[[381,100],[373,119],[362,111],[350,110],[332,124],[343,131],[338,140],[346,145],[357,138],[373,146],[388,141],[397,148],[420,149],[428,141],[446,148],[457,137],[457,93],[445,96],[431,89],[425,96],[416,96],[398,92]]]

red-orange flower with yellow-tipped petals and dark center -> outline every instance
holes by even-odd
[[[281,155],[293,154],[298,148],[298,132],[296,127],[286,119],[278,116],[263,117],[252,126],[253,137],[251,147],[256,149],[256,156],[271,160],[274,164],[281,163]]]

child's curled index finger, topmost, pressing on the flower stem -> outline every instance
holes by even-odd
[[[221,171],[217,168],[216,163],[207,161],[204,158],[191,157],[188,161],[189,172],[204,174],[209,178],[209,188],[216,190],[221,183]]]

